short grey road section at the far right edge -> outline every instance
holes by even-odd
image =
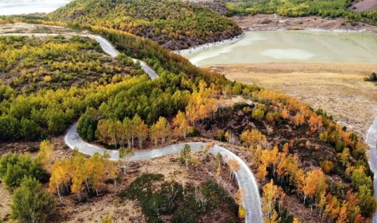
[[[375,173],[373,179],[373,186],[375,188],[375,199],[377,199],[377,150],[376,150],[376,141],[377,141],[377,117],[371,127],[368,130],[366,142],[368,143],[369,149],[369,166],[372,171]],[[377,223],[377,211],[373,215],[372,223]]]

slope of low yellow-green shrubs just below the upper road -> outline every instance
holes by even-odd
[[[119,82],[142,73],[130,58],[107,56],[89,38],[0,37],[0,82],[19,92]]]

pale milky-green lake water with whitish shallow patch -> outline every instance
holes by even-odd
[[[193,64],[284,61],[377,63],[377,34],[330,31],[246,32],[232,44],[184,55]]]

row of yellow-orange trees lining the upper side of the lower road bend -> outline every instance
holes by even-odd
[[[186,112],[178,111],[177,115],[170,123],[165,117],[160,116],[150,127],[138,114],[132,119],[126,117],[123,121],[117,119],[100,119],[100,114],[88,108],[80,117],[77,124],[79,135],[88,140],[98,140],[109,146],[116,148],[135,147],[135,141],[142,148],[143,143],[149,138],[155,146],[166,144],[170,137],[186,138],[193,127],[205,118],[213,118],[217,111],[217,104],[213,95],[217,94],[214,88],[207,88],[204,81],[199,82],[199,88],[194,90],[191,95],[187,95]]]

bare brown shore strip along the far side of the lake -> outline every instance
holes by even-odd
[[[377,2],[377,0],[364,1]],[[351,25],[344,18],[329,19],[321,18],[320,16],[288,18],[274,14],[258,14],[254,16],[233,16],[232,19],[243,30],[247,31],[307,29],[377,32],[376,26],[360,22]]]

